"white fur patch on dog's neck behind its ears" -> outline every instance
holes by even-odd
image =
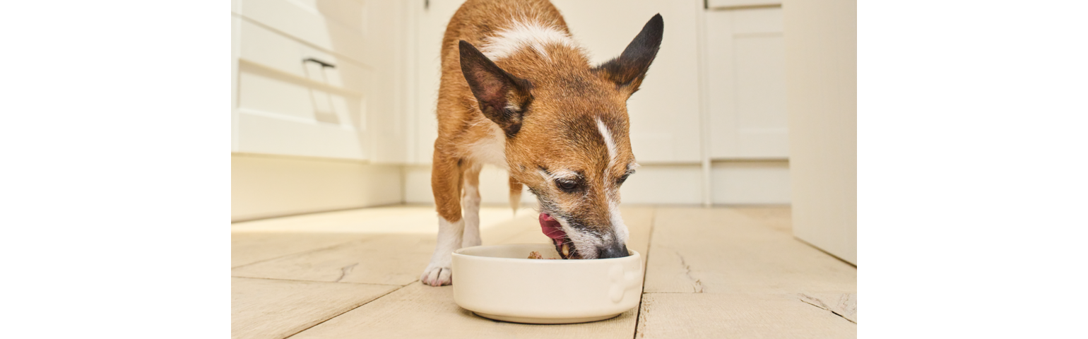
[[[553,26],[541,24],[534,20],[523,20],[485,38],[480,51],[494,61],[529,47],[544,59],[549,59],[547,51],[544,50],[544,47],[548,45],[574,47],[574,40]]]

